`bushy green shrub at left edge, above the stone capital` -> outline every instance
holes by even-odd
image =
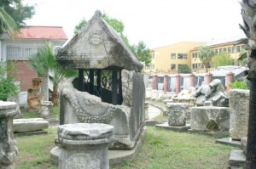
[[[13,67],[11,64],[7,66],[6,63],[0,62],[0,100],[6,101],[9,96],[18,93],[18,87],[15,86],[15,76],[8,75],[7,72],[11,72]]]

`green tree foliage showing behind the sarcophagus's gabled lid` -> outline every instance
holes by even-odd
[[[102,14],[102,19],[105,20],[113,29],[119,32],[120,37],[125,42],[125,44],[131,49],[131,52],[137,57],[138,60],[143,62],[145,65],[150,65],[151,63],[151,54],[149,48],[146,47],[146,44],[143,41],[138,42],[138,44],[131,45],[129,43],[128,37],[123,34],[125,25],[121,20],[110,18],[107,14]],[[74,34],[77,34],[79,30],[86,25],[88,22],[83,18],[78,25],[75,26]]]

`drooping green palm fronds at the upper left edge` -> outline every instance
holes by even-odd
[[[20,28],[4,8],[0,8],[0,34],[3,33],[3,30],[7,31],[10,37],[15,38]]]

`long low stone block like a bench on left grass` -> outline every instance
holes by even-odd
[[[42,118],[14,119],[14,132],[35,132],[49,127],[49,122]]]

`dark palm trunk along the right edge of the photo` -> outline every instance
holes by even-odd
[[[250,85],[249,119],[247,131],[247,155],[245,168],[256,168],[256,2],[255,0],[241,1],[242,31],[248,38],[248,67],[247,79]]]

